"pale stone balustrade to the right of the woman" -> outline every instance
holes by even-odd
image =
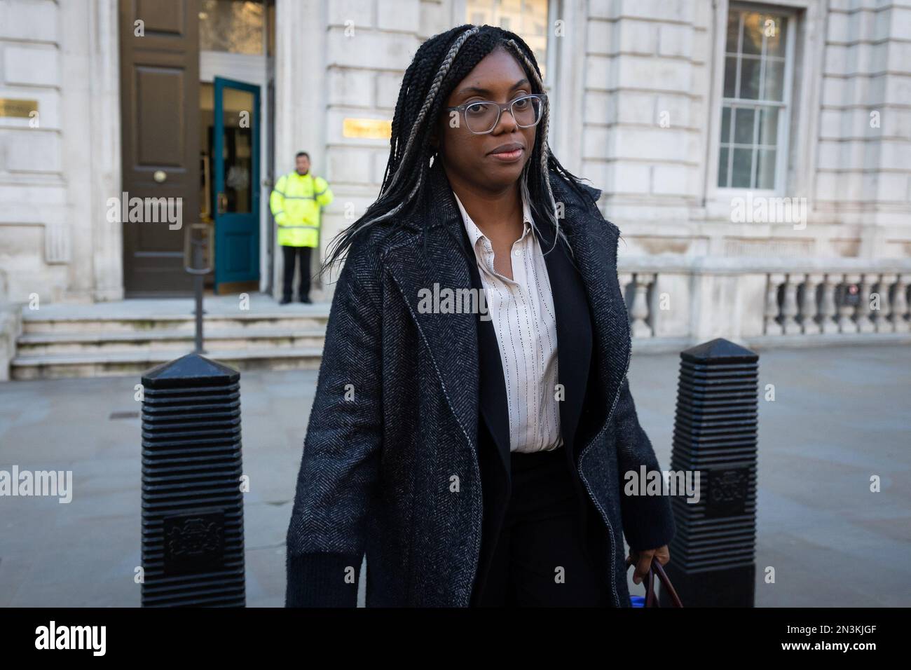
[[[911,261],[619,260],[637,345],[714,337],[745,345],[911,344]]]

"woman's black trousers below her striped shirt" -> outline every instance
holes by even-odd
[[[610,586],[582,541],[564,447],[512,452],[512,494],[479,607],[610,607]]]

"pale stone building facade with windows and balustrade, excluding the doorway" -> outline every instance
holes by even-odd
[[[128,223],[106,216],[137,123],[124,116],[124,16],[155,5],[168,33],[179,15],[160,8],[174,5],[197,12],[204,30],[226,2],[0,0],[5,301],[129,295]],[[824,333],[825,319],[847,333],[867,322],[907,329],[907,0],[274,0],[259,14],[247,6],[257,3],[233,5],[261,15],[261,53],[195,42],[199,68],[183,75],[261,87],[261,291],[279,286],[268,193],[294,153],[309,151],[333,186],[324,252],[374,200],[388,155],[388,139],[350,124],[392,119],[426,37],[500,23],[541,56],[551,146],[603,190],[602,211],[623,234],[636,335],[806,335],[814,324]],[[37,117],[16,115],[29,101]],[[891,311],[851,303],[856,287],[885,294]],[[318,291],[328,299],[331,283]]]

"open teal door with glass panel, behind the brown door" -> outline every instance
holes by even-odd
[[[215,293],[260,278],[260,87],[215,77]]]

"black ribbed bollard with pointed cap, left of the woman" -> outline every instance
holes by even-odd
[[[245,604],[240,378],[198,354],[142,377],[143,607]]]

